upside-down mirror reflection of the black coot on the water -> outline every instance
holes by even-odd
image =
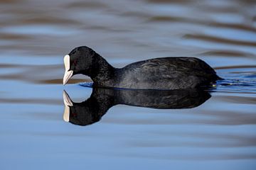
[[[210,94],[203,89],[162,91],[93,88],[90,98],[74,103],[63,91],[63,119],[75,125],[90,125],[98,122],[108,109],[117,104],[159,109],[195,108],[208,98]]]

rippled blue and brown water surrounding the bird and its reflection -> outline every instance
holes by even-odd
[[[255,1],[0,3],[0,169],[255,169]],[[119,104],[74,125],[63,89],[80,103],[92,88],[63,87],[63,56],[80,45],[115,67],[199,57],[225,80],[192,108]]]

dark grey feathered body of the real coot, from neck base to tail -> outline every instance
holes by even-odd
[[[188,89],[219,79],[206,62],[195,57],[163,57],[117,69],[114,86],[129,89]]]

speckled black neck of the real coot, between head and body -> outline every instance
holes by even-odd
[[[108,86],[114,77],[115,68],[112,67],[103,57],[95,54],[94,60],[92,61],[92,72],[90,77],[94,82],[95,86]]]

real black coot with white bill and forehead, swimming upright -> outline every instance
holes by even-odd
[[[75,74],[85,74],[95,87],[124,89],[193,89],[216,80],[213,68],[196,57],[162,57],[112,67],[90,47],[76,47],[64,57],[63,84]]]

